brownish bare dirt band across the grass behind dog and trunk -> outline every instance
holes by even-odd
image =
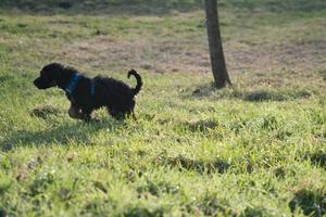
[[[103,36],[76,42],[63,51],[64,59],[88,62],[92,67],[136,67],[153,73],[209,73],[205,42],[191,47],[180,41],[139,39],[124,41]],[[184,50],[180,47],[186,48]],[[326,67],[326,41],[296,46],[252,46],[241,41],[224,44],[231,73],[311,71]],[[103,65],[104,63],[104,65]]]

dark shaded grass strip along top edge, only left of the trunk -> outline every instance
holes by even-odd
[[[164,15],[198,10],[200,0],[2,0],[0,9],[32,14]]]

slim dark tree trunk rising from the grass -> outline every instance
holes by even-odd
[[[205,0],[205,11],[214,81],[217,88],[224,88],[227,84],[231,85],[231,82],[226,69],[225,58],[223,53],[218,24],[217,0]]]

